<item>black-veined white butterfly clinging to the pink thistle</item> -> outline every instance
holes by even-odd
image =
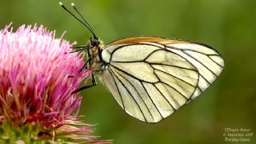
[[[83,22],[72,15],[93,37],[87,46],[78,46],[73,52],[88,50],[91,86],[97,84],[94,75],[98,75],[122,109],[141,121],[155,123],[173,114],[197,98],[223,70],[224,60],[218,51],[198,42],[132,37],[104,46],[78,14]]]

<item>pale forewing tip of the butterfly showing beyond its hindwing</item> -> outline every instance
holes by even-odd
[[[209,46],[187,43],[166,42],[166,48],[176,54],[182,55],[190,61],[197,69],[200,75],[196,92],[192,99],[196,98],[202,91],[221,74],[224,67],[224,60],[216,50]]]

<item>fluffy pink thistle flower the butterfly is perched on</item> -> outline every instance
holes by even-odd
[[[69,54],[75,42],[54,35],[36,25],[0,31],[0,143],[94,142],[78,121],[82,97],[71,94],[88,77],[78,73],[84,53]]]

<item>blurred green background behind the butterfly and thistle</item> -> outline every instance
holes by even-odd
[[[62,0],[70,7],[70,0]],[[213,46],[225,59],[220,77],[200,97],[158,124],[126,114],[99,84],[82,92],[85,122],[118,144],[230,143],[225,128],[250,129],[256,143],[256,1],[74,0],[105,43],[130,36],[181,38]],[[55,0],[0,2],[0,26],[46,26],[85,45],[90,33]],[[234,143],[234,142],[231,142]],[[239,142],[238,142],[239,143]]]

